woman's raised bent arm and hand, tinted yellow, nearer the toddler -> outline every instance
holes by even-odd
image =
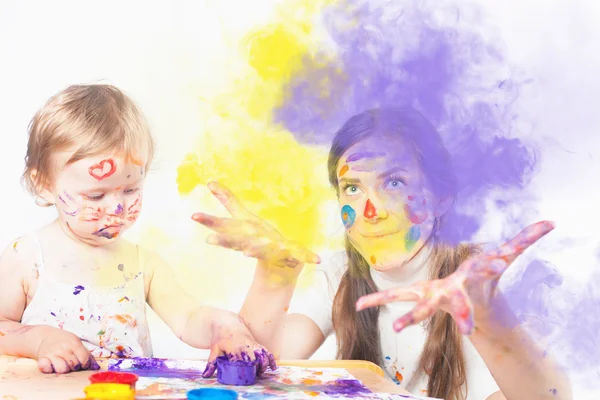
[[[232,218],[194,214],[192,218],[196,222],[214,231],[207,242],[241,251],[258,260],[240,316],[256,340],[276,357],[287,348],[289,338],[295,340],[296,350],[291,354],[286,351],[284,356],[309,357],[323,343],[323,334],[310,318],[295,316],[289,319],[287,311],[304,264],[319,263],[319,257],[287,240],[248,211],[225,186],[211,182],[208,188]]]

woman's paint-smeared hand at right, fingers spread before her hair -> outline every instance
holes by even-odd
[[[460,332],[469,335],[473,331],[474,314],[492,314],[489,308],[502,274],[529,246],[553,229],[554,224],[549,221],[529,225],[497,249],[465,260],[456,272],[444,279],[363,296],[358,299],[356,310],[396,301],[416,302],[410,312],[394,322],[396,332],[424,321],[439,309],[452,315]]]

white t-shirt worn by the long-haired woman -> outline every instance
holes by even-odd
[[[378,272],[371,268],[371,276],[379,290],[398,286],[409,286],[428,279],[427,261],[429,251],[424,248],[401,270]],[[321,263],[310,274],[314,274],[308,289],[298,290],[290,304],[290,314],[302,314],[312,319],[328,337],[333,333],[333,298],[346,271],[345,252],[335,253]],[[384,370],[388,379],[404,387],[414,395],[427,395],[427,376],[416,373],[427,331],[423,324],[412,325],[400,333],[393,330],[393,322],[410,311],[415,303],[395,302],[381,307],[379,313],[379,335],[381,340]],[[468,400],[485,400],[499,390],[483,359],[471,341],[463,340],[467,368]]]

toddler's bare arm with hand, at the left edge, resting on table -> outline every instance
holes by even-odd
[[[0,256],[0,354],[37,359],[46,373],[97,369],[94,358],[72,333],[20,323],[27,304],[26,278],[34,271],[36,251],[30,241],[20,240]]]

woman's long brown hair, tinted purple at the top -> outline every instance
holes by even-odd
[[[415,152],[421,172],[438,198],[454,197],[456,177],[450,155],[437,130],[418,111],[409,107],[368,110],[350,118],[336,133],[329,152],[329,181],[338,190],[337,167],[352,145],[375,135],[399,137]],[[339,194],[339,193],[338,193]],[[437,219],[428,245],[432,246],[429,276],[444,278],[475,251],[474,247],[442,244],[436,235],[442,219]],[[337,358],[367,360],[382,366],[379,336],[379,308],[356,312],[359,297],[378,289],[364,257],[346,238],[348,269],[333,301],[333,326],[337,337]],[[460,400],[466,389],[466,369],[462,336],[452,317],[438,311],[427,322],[427,340],[419,370],[428,375],[428,396]]]

